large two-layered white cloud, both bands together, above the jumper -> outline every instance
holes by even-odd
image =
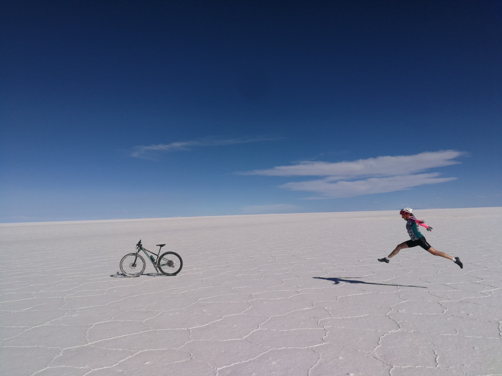
[[[317,196],[307,199],[355,197],[410,189],[424,184],[455,180],[439,177],[439,172],[424,172],[460,162],[454,158],[465,154],[455,150],[423,152],[415,155],[379,156],[336,163],[305,161],[291,166],[241,172],[245,175],[326,176],[322,179],[288,182],[281,188],[305,191]]]

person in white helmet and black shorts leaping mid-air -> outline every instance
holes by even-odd
[[[420,226],[423,226],[427,229],[427,231],[432,231],[432,227],[427,226],[425,224],[425,221],[420,221],[416,219],[413,216],[413,209],[410,208],[404,208],[401,209],[399,212],[401,214],[401,218],[403,218],[406,221],[406,230],[408,231],[408,234],[410,235],[411,240],[408,240],[407,242],[399,244],[394,251],[391,252],[391,254],[387,257],[384,257],[382,259],[378,259],[380,262],[385,262],[389,263],[389,259],[393,258],[398,254],[399,251],[401,251],[403,248],[412,248],[416,246],[420,246],[423,249],[425,249],[427,252],[433,254],[434,256],[441,256],[444,257],[445,259],[453,261],[455,264],[457,264],[460,269],[464,267],[462,262],[458,257],[451,257],[450,255],[444,253],[444,252],[439,252],[436,251],[434,248],[431,247],[429,243],[427,243],[427,240],[425,240],[425,236],[420,234],[420,231],[418,230],[417,224]]]

